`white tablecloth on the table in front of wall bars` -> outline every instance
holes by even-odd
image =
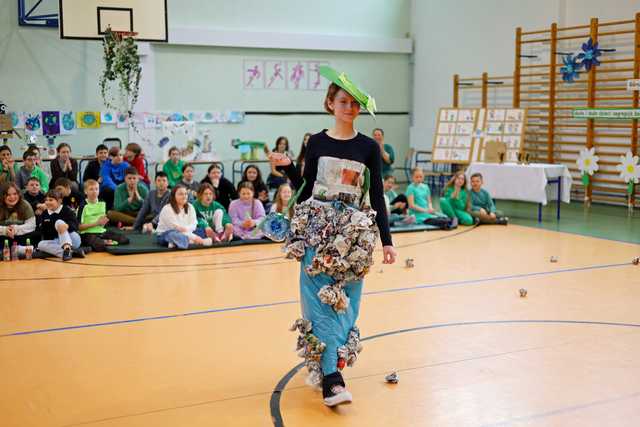
[[[474,173],[481,173],[483,187],[494,199],[522,200],[547,204],[547,200],[557,200],[557,184],[547,185],[549,180],[561,177],[561,199],[571,200],[571,174],[565,165],[535,163],[518,165],[515,163],[472,163],[467,168],[467,180]]]

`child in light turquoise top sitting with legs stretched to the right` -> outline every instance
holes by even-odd
[[[409,213],[420,224],[435,225],[443,229],[455,228],[457,220],[451,220],[433,208],[431,190],[424,183],[424,172],[421,168],[411,171],[411,184],[407,187],[407,204]]]

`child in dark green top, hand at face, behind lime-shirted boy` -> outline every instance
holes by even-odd
[[[127,168],[124,182],[116,188],[113,198],[113,210],[107,213],[107,217],[114,224],[120,223],[128,227],[132,226],[148,193],[147,187],[140,182],[138,169],[134,167]]]

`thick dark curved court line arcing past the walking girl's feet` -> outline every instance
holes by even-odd
[[[570,324],[570,325],[589,325],[589,326],[619,326],[619,327],[632,327],[632,328],[640,328],[640,324],[638,323],[619,323],[619,322],[598,322],[592,320],[550,320],[550,319],[540,319],[540,320],[479,320],[479,321],[471,321],[471,322],[452,322],[452,323],[437,323],[434,325],[426,325],[426,326],[417,326],[414,328],[406,328],[406,329],[398,329],[395,331],[382,332],[380,334],[371,335],[369,337],[363,338],[362,341],[369,341],[377,338],[387,337],[390,335],[398,335],[404,334],[407,332],[416,332],[423,331],[427,329],[440,329],[440,328],[448,328],[455,326],[477,326],[477,325],[510,325],[510,324]],[[282,392],[285,390],[285,387],[297,374],[300,369],[304,366],[304,362],[301,362],[294,366],[289,372],[287,372],[281,379],[278,381],[276,386],[273,389],[271,394],[271,398],[269,399],[269,408],[271,412],[271,421],[275,427],[284,427],[284,420],[282,419],[282,412],[280,410],[280,399],[282,397]],[[320,404],[320,402],[318,402]],[[586,407],[586,406],[585,406]],[[551,413],[551,415],[554,415]],[[547,415],[550,416],[550,415]],[[526,420],[526,419],[525,419]]]

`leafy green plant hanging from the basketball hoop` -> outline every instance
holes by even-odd
[[[142,67],[138,46],[133,37],[120,39],[111,28],[107,28],[102,39],[104,49],[104,71],[100,77],[100,94],[105,107],[120,111],[126,109],[129,118],[138,102]],[[117,84],[118,97],[113,93]],[[130,120],[133,123],[133,120]]]

